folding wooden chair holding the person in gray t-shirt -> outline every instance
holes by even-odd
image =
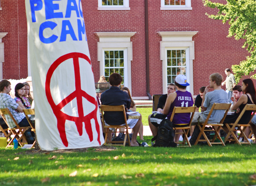
[[[205,122],[203,124],[202,123],[198,124],[199,129],[200,129],[200,133],[199,133],[199,135],[198,135],[198,137],[196,139],[195,145],[197,145],[197,143],[199,141],[206,141],[210,147],[212,147],[212,144],[221,144],[222,146],[225,146],[225,143],[222,141],[219,132],[220,132],[221,126],[223,126],[222,123],[223,123],[223,121],[225,120],[225,118],[226,118],[226,116],[228,114],[230,106],[231,106],[230,103],[229,104],[226,104],[226,103],[214,103],[213,104],[213,106],[212,106],[212,108],[211,108],[211,110],[210,110],[210,112],[209,112]],[[215,111],[215,110],[225,110],[225,114],[224,114],[222,120],[220,121],[220,123],[210,124],[210,123],[208,123],[208,121],[209,121],[209,119],[211,117],[212,112]],[[212,126],[213,130],[205,129],[206,125]],[[205,134],[205,131],[214,131],[215,134],[214,134],[213,138],[211,139],[211,141],[207,138],[207,136]],[[200,139],[202,134],[203,134],[204,139]],[[214,142],[216,137],[218,137],[220,142]]]

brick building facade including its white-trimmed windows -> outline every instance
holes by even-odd
[[[121,5],[81,1],[95,82],[100,75],[108,77],[118,71],[133,97],[147,98],[147,89],[150,95],[165,93],[167,83],[179,73],[187,75],[188,89],[197,95],[211,73],[219,72],[226,78],[226,67],[247,55],[242,40],[227,38],[228,24],[207,18],[206,12],[217,10],[204,7],[201,0],[119,0]],[[0,3],[0,75],[27,78],[25,1]]]

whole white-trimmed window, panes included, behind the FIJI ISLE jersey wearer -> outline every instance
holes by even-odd
[[[160,59],[163,61],[163,94],[167,93],[167,84],[173,83],[178,74],[186,75],[190,84],[187,90],[192,95],[194,94],[193,60],[195,52],[192,37],[196,33],[197,31],[158,32],[162,37]]]

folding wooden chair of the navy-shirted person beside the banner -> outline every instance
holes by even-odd
[[[105,132],[105,143],[104,145],[116,145],[116,146],[125,146],[126,143],[126,139],[128,138],[128,144],[129,146],[131,146],[131,142],[130,142],[130,137],[129,137],[129,132],[128,132],[128,125],[126,122],[126,113],[125,113],[125,107],[124,105],[117,105],[117,106],[111,106],[111,105],[101,105],[100,106],[101,109],[101,117],[102,117],[102,127],[103,127],[103,131]],[[108,112],[108,111],[115,111],[115,112],[123,112],[124,114],[124,123],[125,125],[111,125],[111,123],[108,123],[107,125],[105,124],[105,120],[104,120],[104,115],[103,112]],[[114,131],[109,130],[109,128],[113,128]],[[124,133],[125,133],[125,137],[124,137],[124,141],[111,141],[111,139],[108,139],[108,133],[116,133],[117,130],[116,129],[120,129],[120,128],[124,128]],[[123,143],[122,145],[119,144],[113,144],[113,143]]]

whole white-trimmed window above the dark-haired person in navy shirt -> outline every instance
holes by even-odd
[[[96,32],[99,37],[98,61],[100,75],[105,75],[108,81],[111,73],[119,73],[123,77],[122,85],[131,91],[131,37],[136,32]]]

